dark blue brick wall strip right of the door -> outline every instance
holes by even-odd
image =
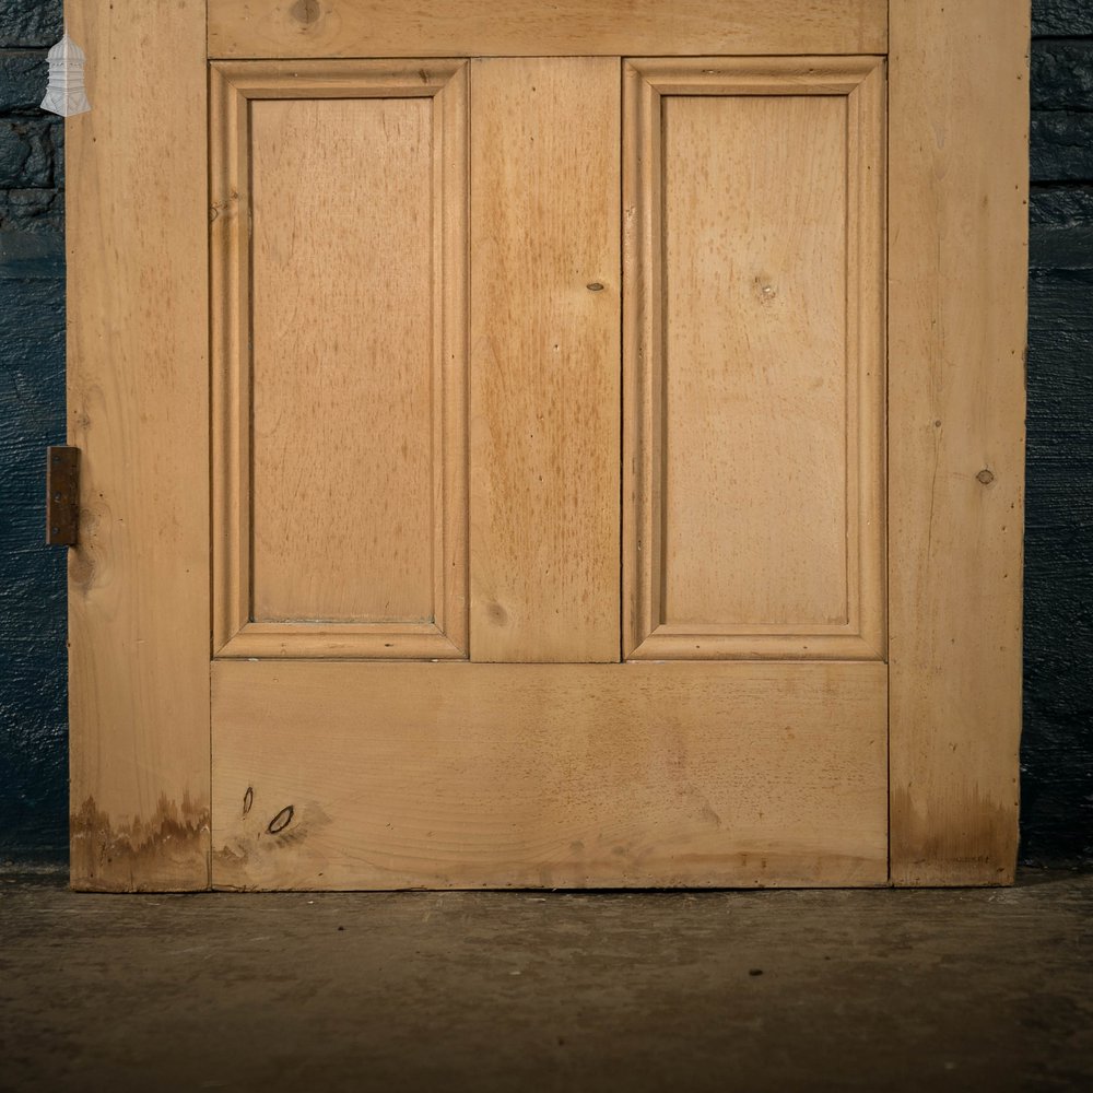
[[[1093,862],[1093,0],[1034,0],[1022,857]]]

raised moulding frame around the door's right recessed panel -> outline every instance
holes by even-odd
[[[626,659],[885,659],[883,57],[634,59],[624,64],[623,621]],[[843,618],[673,620],[665,585],[665,104],[833,96],[846,104]],[[726,559],[726,565],[732,559]]]

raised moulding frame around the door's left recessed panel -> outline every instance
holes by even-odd
[[[256,99],[432,99],[432,619],[255,621],[250,110]],[[467,64],[210,64],[212,653],[214,657],[467,656]]]

